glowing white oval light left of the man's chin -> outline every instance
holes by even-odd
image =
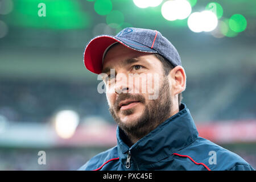
[[[55,129],[59,137],[68,139],[73,136],[79,124],[79,115],[72,110],[62,110],[56,114]]]

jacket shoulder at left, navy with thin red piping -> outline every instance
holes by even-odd
[[[117,146],[110,148],[109,150],[106,150],[104,152],[101,152],[100,154],[97,154],[92,159],[88,160],[84,164],[84,166],[80,167],[78,171],[94,171],[94,170],[100,170],[105,165],[109,166],[107,163],[113,163],[112,160],[118,160],[118,154],[117,154]],[[108,169],[111,170],[111,169]]]

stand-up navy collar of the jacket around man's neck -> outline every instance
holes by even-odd
[[[118,155],[124,166],[129,150],[137,165],[152,164],[188,146],[197,137],[198,132],[191,113],[185,104],[181,104],[179,113],[172,115],[130,148],[123,142],[123,131],[118,126]]]

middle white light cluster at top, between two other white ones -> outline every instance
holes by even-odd
[[[166,1],[161,12],[163,17],[170,21],[185,19],[191,14],[191,5],[185,0]]]

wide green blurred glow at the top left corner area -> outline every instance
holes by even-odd
[[[16,1],[9,24],[20,27],[80,29],[90,26],[90,16],[81,10],[81,4],[72,0],[44,0],[46,16],[38,16],[41,0]],[[15,19],[15,21],[13,20]]]

